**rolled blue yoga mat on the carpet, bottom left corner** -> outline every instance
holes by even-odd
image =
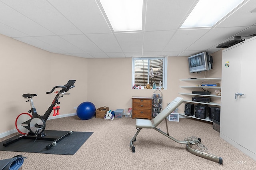
[[[0,170],[18,170],[22,166],[24,158],[22,155],[17,155],[13,158],[0,160]]]

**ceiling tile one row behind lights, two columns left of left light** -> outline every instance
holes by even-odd
[[[64,40],[72,43],[74,46],[86,51],[87,53],[102,53],[103,51],[97,47],[87,36],[84,34],[79,35],[66,35],[60,36]]]

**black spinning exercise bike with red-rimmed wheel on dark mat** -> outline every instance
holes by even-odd
[[[18,130],[18,132],[20,134],[22,134],[22,136],[19,136],[18,138],[11,138],[10,140],[4,142],[3,145],[8,146],[8,145],[10,145],[18,140],[24,139],[24,138],[35,139],[35,141],[36,141],[36,139],[50,140],[53,142],[46,146],[46,149],[49,149],[52,146],[56,146],[57,142],[59,142],[60,140],[62,140],[66,136],[68,136],[69,134],[72,134],[72,131],[69,131],[64,136],[57,137],[57,138],[56,137],[48,138],[48,137],[45,137],[46,133],[44,132],[44,129],[46,127],[46,121],[47,121],[48,117],[50,116],[52,110],[56,109],[55,105],[60,104],[58,99],[60,97],[63,97],[63,95],[70,94],[70,93],[66,93],[66,92],[69,91],[70,89],[72,89],[73,87],[75,87],[74,86],[75,81],[76,80],[69,80],[66,85],[55,86],[52,88],[52,90],[50,92],[46,92],[46,94],[50,94],[50,93],[54,92],[56,88],[62,88],[60,91],[54,92],[54,93],[56,93],[56,96],[55,96],[54,100],[52,101],[48,110],[42,116],[38,115],[38,113],[36,112],[36,108],[34,107],[34,103],[32,100],[32,97],[37,96],[37,95],[30,94],[30,93],[23,94],[22,97],[24,97],[24,99],[27,100],[26,102],[30,102],[31,109],[30,109],[30,111],[28,111],[28,113],[21,113],[16,118],[15,126],[16,126],[16,129]],[[59,109],[59,107],[58,107],[58,109]],[[29,113],[32,113],[32,115]],[[54,111],[54,113],[55,113],[55,111]]]

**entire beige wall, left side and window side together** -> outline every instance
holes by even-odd
[[[0,134],[15,128],[20,113],[30,110],[22,94],[36,93],[35,107],[40,115],[50,106],[54,94],[46,95],[56,85],[75,79],[75,88],[60,98],[60,114],[75,113],[74,107],[84,101],[96,109],[106,105],[111,110],[132,107],[132,96],[151,97],[154,90],[132,89],[132,58],[85,59],[50,53],[0,35]],[[222,52],[214,54],[214,69],[206,77],[221,77]],[[189,73],[188,57],[168,57],[167,88],[162,90],[163,105],[180,92],[179,79],[203,78],[204,72]],[[185,97],[185,96],[182,96]],[[179,107],[184,112],[184,105]]]

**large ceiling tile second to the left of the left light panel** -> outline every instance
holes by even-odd
[[[12,6],[12,8],[20,12],[20,14],[30,18],[56,35],[82,33],[47,1],[2,0],[2,2]]]

